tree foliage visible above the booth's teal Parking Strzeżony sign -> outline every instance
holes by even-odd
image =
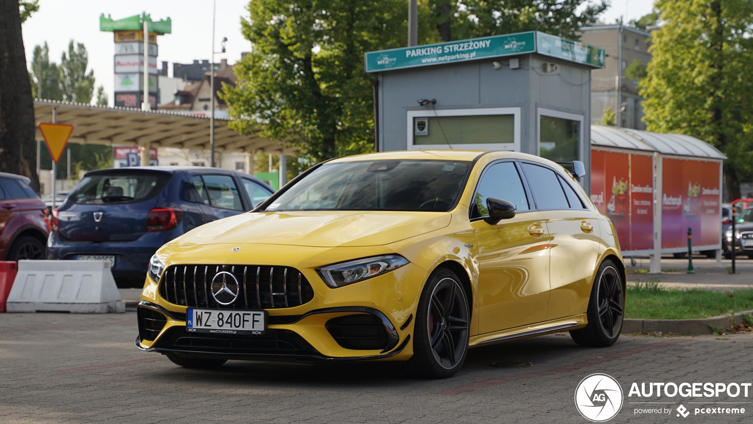
[[[580,29],[608,6],[606,0],[463,0],[455,5],[453,39],[538,30],[579,40]]]

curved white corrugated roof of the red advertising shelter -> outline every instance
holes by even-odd
[[[591,145],[657,151],[660,154],[727,159],[721,151],[695,137],[684,134],[650,133],[609,125],[591,125]]]

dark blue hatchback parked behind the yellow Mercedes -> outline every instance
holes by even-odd
[[[120,288],[142,287],[149,258],[202,224],[254,209],[272,188],[258,178],[200,166],[87,172],[53,211],[48,259],[110,261]]]

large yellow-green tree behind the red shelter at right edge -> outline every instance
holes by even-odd
[[[753,176],[753,2],[659,0],[656,8],[663,26],[651,35],[643,120],[726,154],[727,197],[736,197],[740,178]]]

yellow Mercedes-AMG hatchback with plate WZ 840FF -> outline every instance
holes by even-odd
[[[505,340],[570,331],[609,346],[625,301],[615,234],[575,177],[541,157],[341,157],[160,248],[136,346],[188,368],[387,359],[434,378]]]

